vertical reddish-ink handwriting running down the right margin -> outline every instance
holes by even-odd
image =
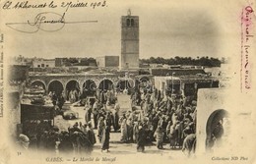
[[[253,35],[253,9],[247,6],[241,14],[241,91],[251,88],[250,54]]]

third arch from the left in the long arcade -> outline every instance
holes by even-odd
[[[71,80],[70,82],[67,82],[66,95],[67,95],[67,100],[70,101],[71,103],[78,101],[80,96],[79,82],[75,80]]]

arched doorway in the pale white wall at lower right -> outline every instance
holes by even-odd
[[[212,151],[213,147],[220,147],[222,137],[228,132],[228,126],[224,124],[228,122],[228,112],[224,109],[214,111],[207,120],[206,125],[206,150]],[[225,127],[225,129],[224,129]]]

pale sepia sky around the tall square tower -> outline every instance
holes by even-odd
[[[73,2],[90,3],[91,0]],[[60,4],[59,1],[55,3]],[[10,56],[42,58],[118,56],[121,52],[120,19],[130,9],[132,15],[140,18],[141,59],[230,56],[232,54],[227,50],[232,47],[228,40],[233,37],[232,33],[239,31],[237,18],[240,11],[229,8],[235,6],[231,1],[225,3],[222,5],[221,0],[107,0],[106,7],[69,8],[65,13],[66,22],[97,23],[69,24],[55,32],[39,30],[35,33],[23,33],[2,25],[8,33],[6,52]],[[65,9],[6,10],[2,15],[8,18],[5,22],[20,23],[32,21],[39,12],[62,15]]]

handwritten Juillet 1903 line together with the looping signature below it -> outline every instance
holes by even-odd
[[[65,27],[67,24],[83,24],[83,23],[97,23],[96,20],[91,21],[65,21],[65,15],[72,8],[103,8],[107,7],[105,0],[95,1],[95,2],[86,2],[86,1],[69,1],[69,2],[43,2],[38,3],[36,1],[6,1],[1,7],[3,10],[36,10],[36,9],[55,9],[62,8],[64,9],[63,13],[55,12],[42,12],[36,14],[34,19],[27,20],[21,23],[7,23],[7,27],[11,27],[14,30],[26,33],[34,33],[38,30],[42,31],[58,31]]]

